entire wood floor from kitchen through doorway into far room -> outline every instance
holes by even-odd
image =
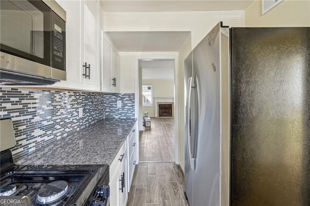
[[[127,206],[188,206],[184,191],[184,174],[174,163],[174,118],[151,118],[151,127],[140,132]]]

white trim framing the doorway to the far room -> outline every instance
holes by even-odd
[[[132,53],[131,53],[132,54]],[[150,55],[163,54],[163,53],[150,53]],[[138,127],[139,130],[143,130],[142,126],[142,116],[139,114],[139,60],[140,59],[174,59],[174,162],[179,164],[179,56],[178,52],[170,52],[171,56],[142,56],[140,52],[137,52],[135,57],[135,115],[138,117]],[[139,55],[139,56],[138,56]],[[140,56],[141,55],[141,56]],[[140,124],[141,123],[141,124]]]

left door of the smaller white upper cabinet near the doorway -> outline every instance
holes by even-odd
[[[112,88],[112,45],[109,40],[103,34],[103,81],[102,91],[113,92]]]

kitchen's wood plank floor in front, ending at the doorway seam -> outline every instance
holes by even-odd
[[[180,166],[170,162],[137,165],[127,206],[188,206]]]

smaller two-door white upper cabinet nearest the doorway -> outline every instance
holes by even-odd
[[[120,92],[120,58],[119,53],[109,40],[102,34],[103,68],[102,68],[102,91]]]

